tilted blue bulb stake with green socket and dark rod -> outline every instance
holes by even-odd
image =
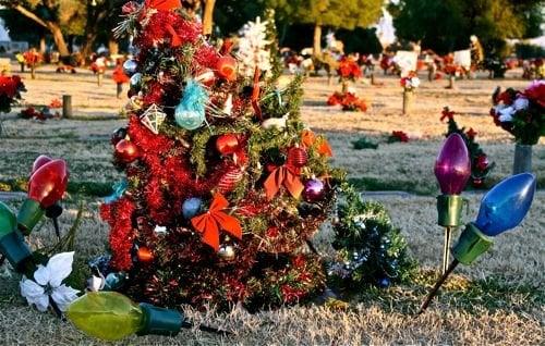
[[[526,215],[535,193],[535,175],[512,175],[494,186],[482,199],[475,222],[465,225],[452,248],[455,260],[437,281],[419,310],[424,312],[440,286],[459,263],[471,264],[493,245],[496,235],[519,225]]]

